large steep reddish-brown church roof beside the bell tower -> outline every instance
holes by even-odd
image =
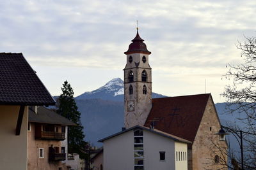
[[[155,128],[180,138],[194,141],[211,94],[152,99],[146,127],[156,120]]]

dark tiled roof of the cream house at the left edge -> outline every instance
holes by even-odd
[[[55,104],[22,53],[0,53],[0,104]]]

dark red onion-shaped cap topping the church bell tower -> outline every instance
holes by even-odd
[[[132,43],[129,45],[129,49],[125,54],[130,54],[130,53],[145,53],[145,54],[150,54],[151,52],[148,51],[147,45],[143,43],[143,39],[140,38],[139,32],[137,30],[136,37],[132,39]]]

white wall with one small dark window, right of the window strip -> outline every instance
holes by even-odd
[[[143,138],[144,169],[170,170],[175,168],[174,141],[172,139],[148,131],[144,131]],[[159,152],[165,152],[165,160],[160,160]]]

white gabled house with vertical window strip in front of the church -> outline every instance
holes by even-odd
[[[104,147],[104,170],[186,170],[186,139],[157,129],[136,125],[100,139]]]

